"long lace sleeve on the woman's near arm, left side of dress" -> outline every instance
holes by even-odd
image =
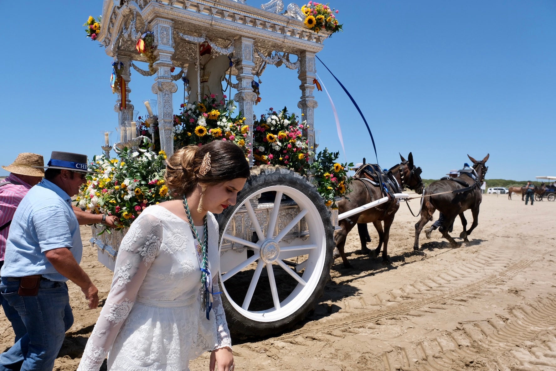
[[[160,220],[143,214],[131,225],[118,250],[106,304],[87,341],[79,371],[98,371],[133,307],[162,239]]]

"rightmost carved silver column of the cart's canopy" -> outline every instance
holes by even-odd
[[[315,151],[315,119],[314,110],[319,106],[312,95],[315,85],[313,79],[316,78],[315,54],[307,51],[301,52],[299,56],[299,80],[301,80],[301,100],[297,103],[297,107],[301,108],[303,117],[301,121],[307,121],[309,129],[304,128],[303,133],[309,140],[309,150]],[[313,161],[313,157],[309,157],[309,162]]]

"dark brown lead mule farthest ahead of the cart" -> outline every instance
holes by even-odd
[[[457,245],[455,240],[448,234],[450,226],[454,223],[454,219],[459,215],[463,232],[460,238],[469,242],[467,236],[478,225],[479,206],[483,200],[480,185],[483,183],[486,170],[485,162],[489,155],[481,161],[476,161],[473,157],[467,155],[469,160],[473,161],[473,170],[475,174],[469,172],[460,172],[460,175],[452,179],[441,179],[432,182],[425,189],[425,201],[423,209],[421,209],[421,219],[415,224],[415,243],[414,250],[419,250],[419,234],[428,221],[433,220],[433,213],[438,209],[444,215],[444,222],[440,226],[439,231],[443,237],[447,239],[451,245]],[[474,179],[475,178],[475,179]],[[471,209],[473,214],[473,224],[469,230],[466,230],[467,221],[463,215],[465,210]]]

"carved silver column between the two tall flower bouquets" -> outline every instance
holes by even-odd
[[[239,61],[235,65],[238,73],[236,76],[237,94],[234,96],[234,101],[239,103],[240,111],[246,119],[245,125],[249,125],[249,135],[245,141],[251,149],[250,166],[253,165],[253,102],[257,100],[257,95],[251,87],[255,68],[253,42],[253,39],[241,36],[235,40],[235,57],[239,58]]]

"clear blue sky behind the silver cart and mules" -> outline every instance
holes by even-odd
[[[463,166],[466,154],[482,159],[490,153],[488,178],[556,175],[556,2],[330,5],[340,9],[344,32],[326,40],[319,57],[359,102],[381,166],[398,164],[398,152],[412,151],[423,177],[438,179]],[[0,165],[19,152],[42,154],[45,162],[52,150],[100,154],[101,130],[117,125],[112,60],[81,25],[101,13],[102,1],[4,1],[0,9]],[[317,70],[339,111],[347,160],[373,161],[363,121],[320,63]],[[267,67],[255,113],[270,106],[298,112],[296,75]],[[132,72],[136,107],[156,98],[152,83],[153,77]],[[180,83],[175,112],[182,92]],[[339,151],[327,97],[315,96],[321,148]],[[0,169],[0,175],[7,173]]]

